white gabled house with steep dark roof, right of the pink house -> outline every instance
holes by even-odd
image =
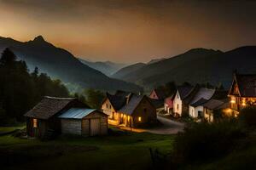
[[[179,86],[173,99],[173,115],[186,116],[189,114],[189,102],[197,92],[198,87],[195,86]]]

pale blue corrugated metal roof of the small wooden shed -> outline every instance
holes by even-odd
[[[84,116],[88,116],[94,111],[96,111],[96,109],[71,108],[67,111],[63,111],[58,117],[66,119],[82,119]]]

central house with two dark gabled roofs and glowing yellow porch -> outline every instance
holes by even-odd
[[[146,95],[118,91],[108,94],[102,102],[102,111],[116,125],[125,127],[148,126],[157,122],[156,109]]]

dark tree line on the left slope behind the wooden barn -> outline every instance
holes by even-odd
[[[98,108],[104,98],[101,91],[94,89],[70,94],[60,80],[39,73],[38,67],[30,73],[25,61],[17,60],[9,48],[3,50],[0,59],[0,125],[23,122],[26,111],[44,96],[76,97],[93,108]]]

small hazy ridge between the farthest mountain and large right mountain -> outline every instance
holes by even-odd
[[[114,73],[111,77],[117,78],[117,79],[123,79],[127,75],[129,75],[131,72],[135,72],[145,65],[146,65],[145,63],[136,63],[134,65],[125,66],[124,68],[122,68],[119,71],[117,71],[116,73]]]

